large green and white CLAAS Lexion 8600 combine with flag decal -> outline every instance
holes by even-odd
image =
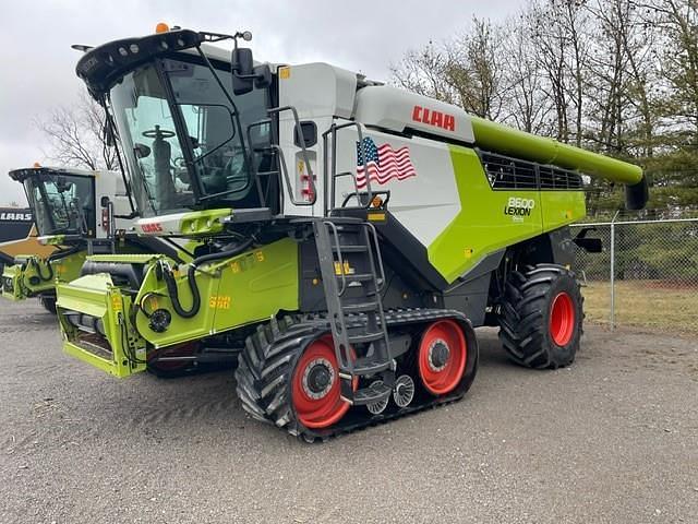
[[[524,366],[569,365],[574,245],[600,249],[568,228],[582,174],[638,209],[641,169],[325,63],[255,62],[250,38],[160,26],[82,48],[137,233],[196,249],[87,257],[58,286],[64,349],[117,377],[236,352],[244,409],[306,440],[462,397],[478,326]]]

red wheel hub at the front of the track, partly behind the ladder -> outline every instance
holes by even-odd
[[[339,393],[335,346],[332,335],[325,335],[305,348],[293,370],[291,398],[298,420],[311,429],[336,424],[349,409]]]

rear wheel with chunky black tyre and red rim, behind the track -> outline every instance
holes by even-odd
[[[570,365],[582,333],[582,302],[574,273],[561,265],[513,272],[500,314],[500,340],[509,358],[538,369]]]

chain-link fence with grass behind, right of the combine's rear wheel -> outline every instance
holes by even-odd
[[[603,252],[577,251],[587,319],[675,334],[698,334],[698,212],[616,214],[592,227]]]

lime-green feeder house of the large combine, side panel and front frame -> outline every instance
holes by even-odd
[[[145,263],[147,269],[139,293],[131,298],[113,285],[108,274],[80,277],[57,288],[59,318],[64,333],[65,353],[117,377],[127,377],[145,369],[129,362],[129,347],[145,358],[146,347],[159,348],[201,340],[219,332],[270,318],[279,310],[299,309],[299,247],[290,238],[277,240],[237,257],[206,264],[196,272],[201,309],[191,319],[179,317],[172,307],[165,282],[157,277],[157,266],[173,261],[164,255],[96,255],[88,260],[117,263]],[[186,281],[186,265],[176,270],[179,299],[184,309],[192,303]],[[137,308],[152,313],[167,309],[171,324],[158,333]],[[92,350],[84,334],[71,325],[65,312],[79,311],[101,319],[111,356]],[[135,319],[135,325],[133,325]],[[83,340],[81,341],[81,336]]]

